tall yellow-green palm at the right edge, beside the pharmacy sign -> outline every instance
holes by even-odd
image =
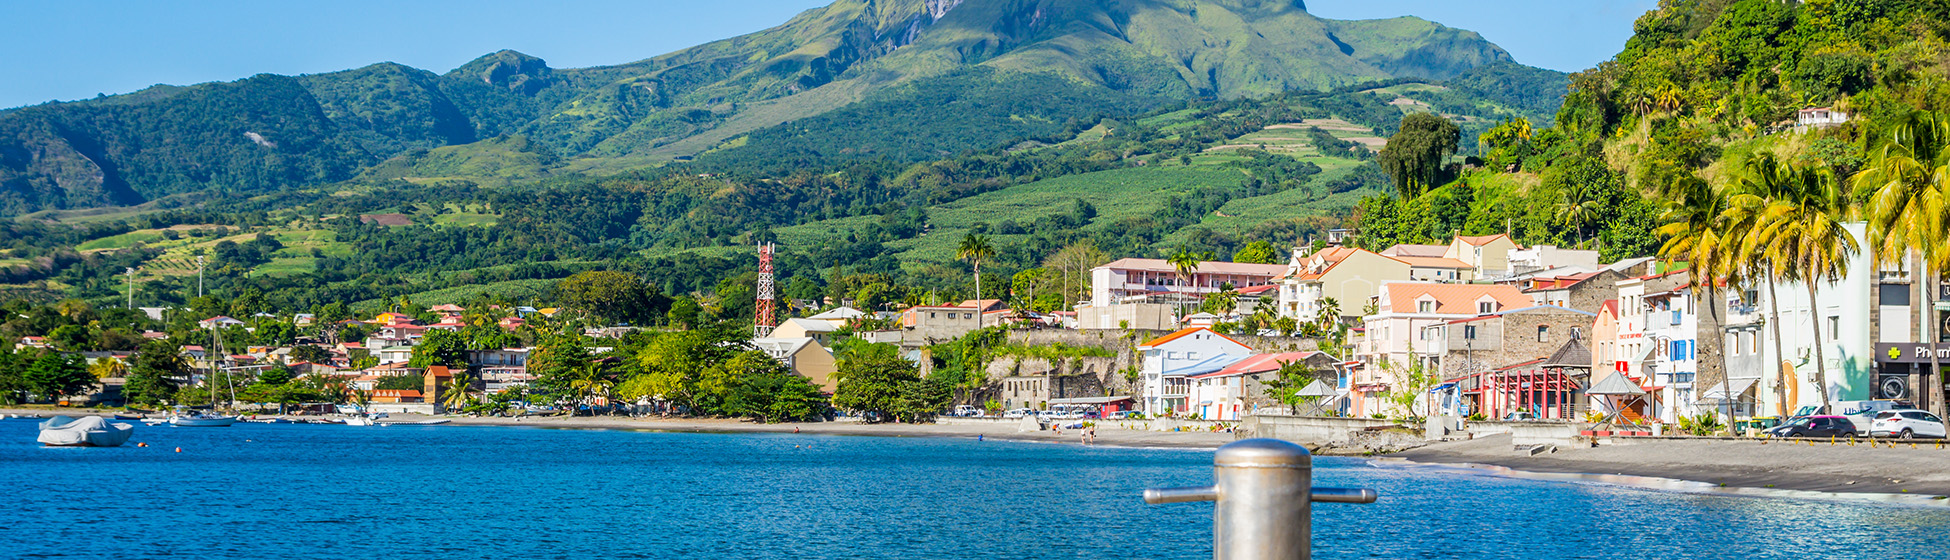
[[[1917,256],[1917,291],[1925,314],[1936,308],[1938,271],[1950,265],[1944,250],[1944,197],[1950,195],[1950,117],[1915,111],[1874,140],[1870,166],[1852,178],[1856,193],[1866,201],[1870,254],[1876,263],[1901,263]],[[1923,340],[1936,341],[1936,320],[1923,322]],[[1930,412],[1944,414],[1942,365],[1930,351],[1930,375],[1925,394]]]

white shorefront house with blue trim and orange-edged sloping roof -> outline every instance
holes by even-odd
[[[1184,328],[1137,345],[1143,406],[1150,416],[1190,414],[1191,377],[1225,369],[1252,347],[1211,328]]]

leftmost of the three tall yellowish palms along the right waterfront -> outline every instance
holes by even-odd
[[[1728,189],[1708,185],[1698,178],[1675,181],[1671,203],[1665,209],[1665,246],[1659,256],[1671,261],[1687,261],[1693,267],[1689,289],[1695,299],[1706,304],[1714,324],[1720,324],[1720,287],[1737,285],[1739,273],[1739,226],[1743,213],[1730,213]],[[1704,293],[1704,299],[1700,295]],[[1728,425],[1734,421],[1734,380],[1730,371],[1720,373],[1722,402],[1726,402]]]

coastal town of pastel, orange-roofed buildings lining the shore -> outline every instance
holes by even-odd
[[[1864,224],[1847,230],[1866,236]],[[838,365],[846,357],[837,357],[835,347],[887,347],[922,379],[948,367],[942,353],[963,351],[971,336],[1069,349],[987,355],[954,406],[928,412],[944,418],[1176,418],[1227,425],[1254,416],[1449,416],[1603,421],[1618,425],[1618,433],[1759,435],[1815,414],[1942,408],[1932,371],[1950,359],[1950,345],[1929,338],[1940,338],[1932,326],[1950,312],[1927,302],[1950,293],[1923,285],[1925,277],[1911,275],[1905,263],[1878,265],[1858,254],[1847,275],[1810,293],[1792,281],[1708,285],[1685,261],[1601,263],[1591,250],[1519,246],[1505,234],[1381,252],[1347,244],[1353,236],[1336,230],[1320,244],[1293,248],[1287,263],[1108,261],[1088,271],[1088,300],[1055,312],[1016,310],[1004,299],[872,312],[848,300],[819,300],[792,304],[805,316],[770,320],[774,300],[760,287],[760,322],[737,343],[762,351],[825,396],[842,382]],[[138,310],[158,324],[191,312]],[[546,351],[523,343],[538,340],[538,324],[585,324],[571,340],[597,367],[614,361],[606,353],[642,332],[591,324],[567,308],[482,302],[370,318],[252,312],[176,324],[191,326],[195,343],[172,341],[185,332],[150,330],[142,332],[150,341],[142,351],[179,353],[181,394],[232,384],[228,396],[216,398],[232,410],[337,412],[359,402],[363,408],[351,410],[460,414],[499,400],[571,414],[684,412],[663,394],[610,388],[560,400],[544,400],[542,392],[515,396],[528,394],[525,388],[536,380],[530,355]],[[232,340],[281,332],[291,341],[224,345],[228,330],[238,332]],[[456,338],[472,347],[456,347]],[[480,349],[484,340],[507,345]],[[16,353],[66,349],[47,336],[14,343]],[[101,373],[99,382],[41,400],[129,406],[127,373],[138,353],[76,351],[86,369]],[[316,402],[236,394],[230,379],[248,386],[269,371],[332,390],[308,394]],[[150,404],[185,404],[172,400]],[[1868,425],[1856,431],[1866,435]]]

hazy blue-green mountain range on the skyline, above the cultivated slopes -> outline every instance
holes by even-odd
[[[1505,70],[1478,74],[1484,90],[1533,98],[1503,103],[1556,90],[1554,72],[1513,66],[1476,33],[1320,20],[1299,2],[838,0],[616,66],[501,51],[445,74],[382,62],[4,111],[0,215],[177,207],[361,174],[612,176],[698,154],[720,170],[915,162],[1195,98],[1486,66]]]

